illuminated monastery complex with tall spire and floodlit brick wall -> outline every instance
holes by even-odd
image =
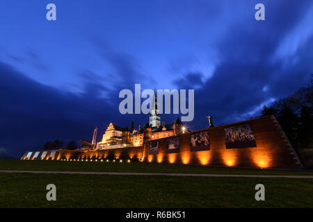
[[[21,160],[156,162],[227,167],[300,169],[303,164],[275,116],[257,117],[209,128],[186,130],[180,119],[161,123],[157,95],[145,126],[122,128],[110,123],[100,142],[82,143],[80,150],[27,151]],[[98,161],[99,160],[99,161]],[[116,161],[118,160],[118,161]]]

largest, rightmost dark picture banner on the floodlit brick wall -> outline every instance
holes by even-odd
[[[252,126],[249,123],[224,128],[226,148],[246,148],[257,146]]]

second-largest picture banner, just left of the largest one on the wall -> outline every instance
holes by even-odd
[[[193,133],[190,136],[191,151],[209,151],[210,139],[209,132]]]

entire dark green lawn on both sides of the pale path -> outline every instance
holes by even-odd
[[[0,169],[313,175],[141,162],[0,160]],[[46,200],[50,183],[56,185],[57,201]],[[255,200],[259,183],[265,186],[265,201]],[[313,179],[0,173],[0,207],[313,207]]]

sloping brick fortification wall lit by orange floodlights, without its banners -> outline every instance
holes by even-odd
[[[230,148],[225,143],[225,128],[249,125],[255,139],[255,146]],[[191,151],[191,135],[207,133],[209,150]],[[172,152],[168,147],[168,139],[178,137],[179,148]],[[178,136],[157,139],[158,151],[152,154],[150,144],[156,140],[148,140],[144,146],[114,148],[99,151],[56,151],[54,158],[133,158],[143,162],[159,162],[170,164],[202,164],[228,167],[287,168],[298,169],[300,160],[282,131],[274,116],[259,117],[247,121],[231,123],[214,128],[193,131]],[[228,146],[228,147],[227,147]],[[237,144],[238,146],[238,144]],[[207,146],[208,147],[208,146]],[[34,152],[33,152],[34,153]],[[24,154],[22,159],[26,157]],[[52,159],[52,158],[50,158]],[[29,157],[31,160],[31,157]],[[49,158],[48,158],[49,160]]]

